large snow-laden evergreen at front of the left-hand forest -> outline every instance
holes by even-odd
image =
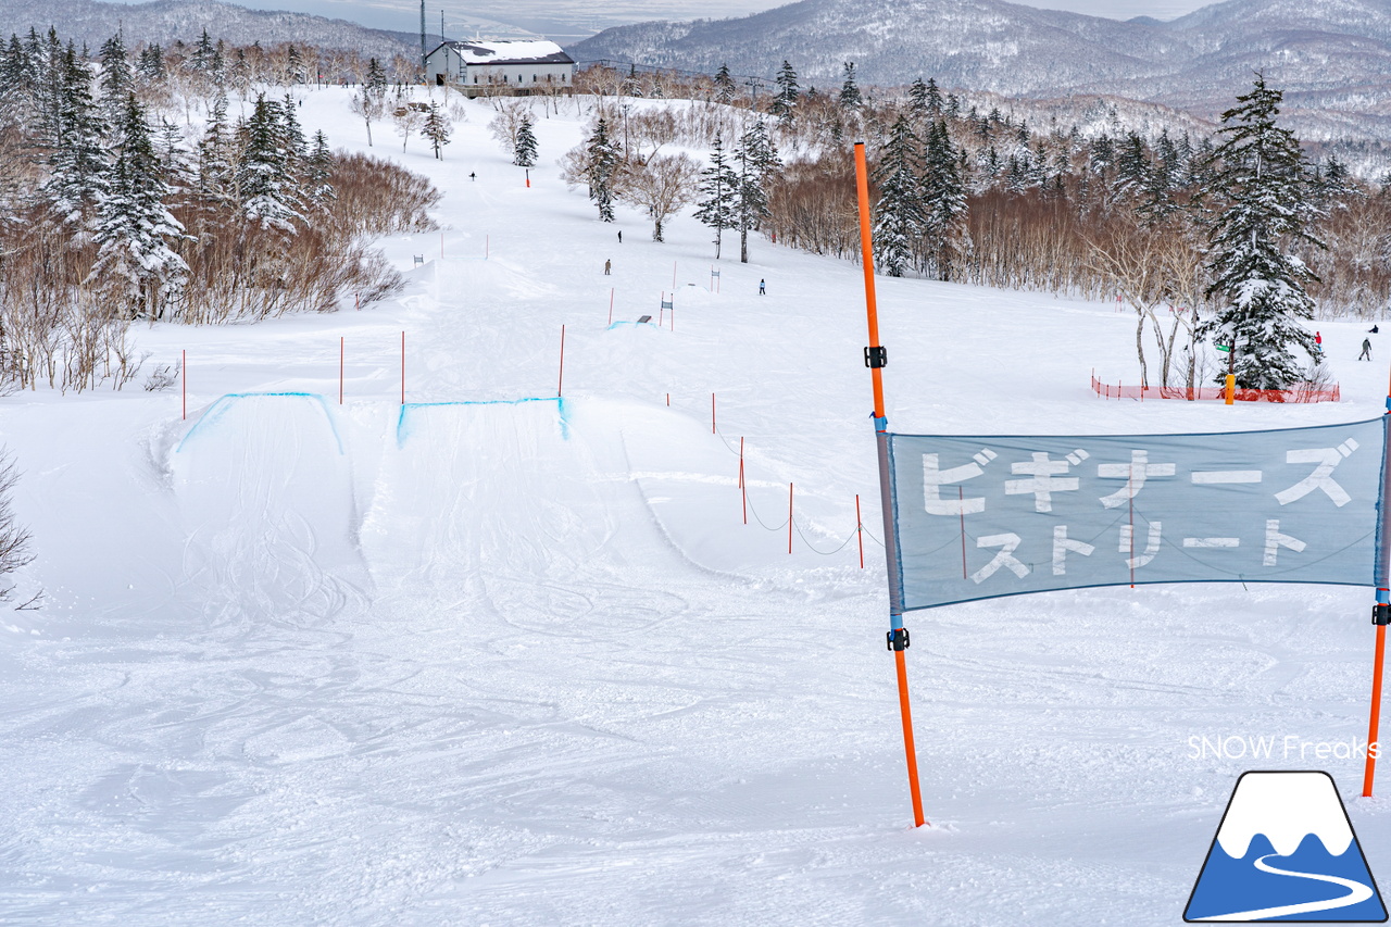
[[[163,319],[188,277],[188,264],[168,241],[181,237],[184,227],[164,205],[168,188],[134,93],[127,95],[115,138],[110,185],[97,207],[97,258],[88,280],[99,283],[128,317]]]

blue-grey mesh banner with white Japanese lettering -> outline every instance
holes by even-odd
[[[890,434],[903,608],[1174,582],[1373,585],[1383,419],[1278,431]]]

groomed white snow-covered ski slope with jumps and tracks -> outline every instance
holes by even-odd
[[[346,92],[300,95],[364,149]],[[140,330],[152,365],[188,352],[186,420],[177,391],[0,401],[38,553],[17,601],[46,593],[0,612],[0,923],[1174,924],[1246,768],[1328,770],[1391,871],[1360,761],[1191,746],[1365,736],[1363,589],[908,615],[912,830],[882,548],[861,569],[851,534],[860,494],[881,536],[858,269],[726,237],[711,292],[689,216],[655,244],[565,189],[573,103],[538,111],[530,188],[467,113],[442,161],[377,127],[445,192],[442,232],[384,242],[395,301]],[[675,330],[632,324],[673,266]],[[879,296],[900,431],[1383,411],[1366,326],[1320,324],[1338,405],[1107,402],[1092,367],[1135,379],[1113,305]]]

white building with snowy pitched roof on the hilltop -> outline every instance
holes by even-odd
[[[441,43],[426,56],[426,74],[437,85],[465,90],[508,86],[531,92],[574,82],[574,58],[555,42],[459,39]]]

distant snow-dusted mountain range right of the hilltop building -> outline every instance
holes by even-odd
[[[568,49],[609,58],[772,78],[786,58],[801,84],[933,77],[943,88],[1010,96],[1114,95],[1213,118],[1256,70],[1285,90],[1308,139],[1391,139],[1387,0],[1225,0],[1170,22],[1125,22],[1004,0],[801,0],[739,19],[641,22]]]

